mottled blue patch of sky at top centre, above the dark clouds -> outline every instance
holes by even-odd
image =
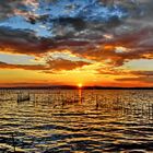
[[[106,7],[96,0],[57,0],[49,4],[40,2],[38,13],[47,13],[51,20],[59,17],[81,17],[85,21],[107,22],[114,16],[121,19],[128,11],[121,5]]]

